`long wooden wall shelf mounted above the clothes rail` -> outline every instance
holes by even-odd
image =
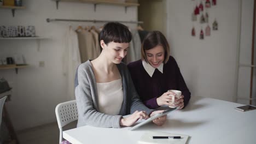
[[[72,2],[72,3],[92,3],[94,4],[94,11],[96,11],[97,4],[111,4],[111,5],[121,5],[125,7],[125,13],[127,7],[138,7],[138,3],[127,3],[127,2],[118,2],[118,1],[101,1],[101,0],[52,0],[56,2],[56,9],[59,8],[59,2]]]

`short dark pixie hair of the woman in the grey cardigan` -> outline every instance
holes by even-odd
[[[99,41],[103,40],[106,45],[114,43],[130,43],[132,34],[129,28],[119,22],[108,22],[104,25]]]

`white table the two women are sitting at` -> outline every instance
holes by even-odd
[[[153,123],[135,131],[125,128],[96,128],[88,125],[63,131],[63,138],[71,143],[137,143],[146,131],[162,131],[189,135],[188,143],[256,143],[256,110],[241,112],[234,108],[241,104],[228,101],[191,97],[184,110],[167,116],[158,127]]]

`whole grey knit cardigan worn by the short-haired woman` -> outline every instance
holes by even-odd
[[[98,112],[97,85],[90,61],[82,63],[75,75],[75,99],[78,109],[77,127],[91,125],[94,127],[120,128],[120,118],[124,115],[138,111],[146,111],[147,114],[154,110],[148,109],[141,100],[124,63],[117,64],[123,81],[124,101],[119,115],[107,115]]]

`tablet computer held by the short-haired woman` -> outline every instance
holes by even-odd
[[[177,110],[177,109],[178,109],[178,107],[175,107],[175,108],[168,109],[168,110],[166,110],[164,112],[158,113],[158,114],[154,115],[153,117],[150,117],[150,118],[144,120],[143,122],[136,124],[130,130],[135,130],[135,129],[141,127],[142,125],[145,125],[145,124],[147,124],[149,122],[152,122],[154,119],[159,118],[159,117],[164,116],[164,115],[167,115],[168,113],[170,113],[170,112],[172,112],[174,110]]]

